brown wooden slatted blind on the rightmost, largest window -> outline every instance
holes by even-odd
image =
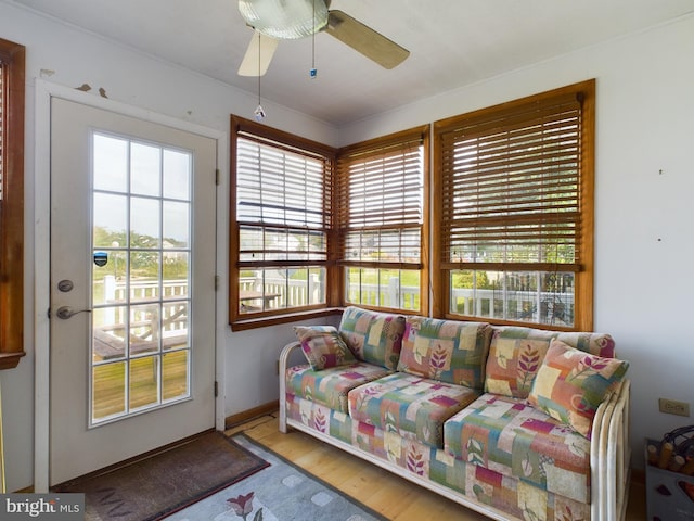
[[[567,94],[441,134],[446,267],[580,269],[580,118]]]

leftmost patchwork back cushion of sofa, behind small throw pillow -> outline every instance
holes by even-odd
[[[358,360],[386,369],[398,366],[404,317],[349,306],[343,313],[339,333]]]

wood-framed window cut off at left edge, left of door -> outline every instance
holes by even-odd
[[[0,38],[0,369],[24,356],[24,46]]]

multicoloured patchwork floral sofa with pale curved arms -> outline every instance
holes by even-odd
[[[498,520],[616,521],[628,363],[608,334],[345,309],[295,327],[280,430],[306,432]],[[307,364],[290,365],[300,350]]]

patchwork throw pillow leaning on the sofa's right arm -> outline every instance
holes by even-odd
[[[595,411],[627,373],[629,363],[552,341],[528,402],[590,440]]]

